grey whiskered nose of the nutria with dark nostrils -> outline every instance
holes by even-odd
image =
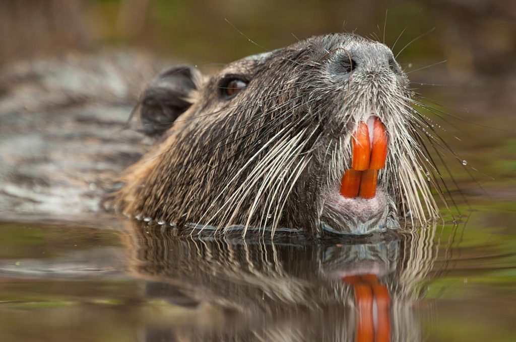
[[[371,43],[360,47],[338,49],[338,58],[333,63],[335,72],[348,75],[353,72],[384,73],[401,75],[401,69],[394,60],[391,50],[383,44]]]

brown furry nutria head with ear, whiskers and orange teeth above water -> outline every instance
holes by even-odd
[[[165,138],[110,198],[135,217],[220,229],[366,233],[397,227],[398,216],[436,217],[408,84],[388,47],[343,33],[243,58],[209,78],[172,68],[139,107],[147,133]],[[377,133],[387,152],[374,168]]]

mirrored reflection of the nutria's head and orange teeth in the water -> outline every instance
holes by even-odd
[[[130,272],[190,320],[148,320],[146,340],[420,340],[414,305],[436,227],[314,243],[176,236],[135,225]]]

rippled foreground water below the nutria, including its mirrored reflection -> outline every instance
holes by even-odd
[[[130,221],[3,222],[0,331],[22,341],[512,341],[514,219],[484,208],[417,232],[274,242]]]

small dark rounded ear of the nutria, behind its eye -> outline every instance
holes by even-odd
[[[163,134],[192,105],[191,92],[201,82],[200,72],[187,65],[173,66],[161,73],[144,91],[127,126],[149,136]]]

